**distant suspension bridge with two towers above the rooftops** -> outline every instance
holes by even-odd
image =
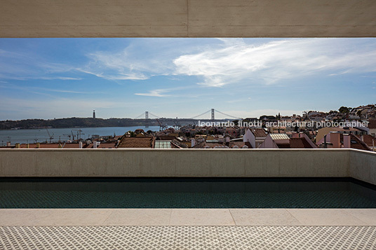
[[[216,113],[222,116],[223,118],[221,119],[216,119]],[[236,116],[231,116],[227,113],[223,113],[221,111],[217,111],[216,109],[209,109],[208,111],[205,111],[203,113],[200,113],[197,116],[193,116],[191,118],[163,118],[161,116],[156,116],[153,113],[150,113],[149,111],[145,111],[140,114],[140,116],[137,116],[133,119],[142,119],[145,120],[145,127],[149,127],[152,122],[158,123],[159,127],[161,129],[166,128],[167,126],[176,126],[180,127],[181,123],[184,124],[194,124],[196,125],[197,120],[202,120],[203,122],[212,122],[215,123],[217,121],[222,121],[224,119],[231,119],[231,120],[241,120],[242,118],[236,117]]]

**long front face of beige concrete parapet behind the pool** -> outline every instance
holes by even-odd
[[[342,177],[349,176],[349,155],[343,149],[1,149],[0,176]]]

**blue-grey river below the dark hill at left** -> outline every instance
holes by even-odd
[[[32,144],[34,142],[43,142],[43,141],[50,141],[50,136],[48,133],[51,134],[53,139],[51,141],[67,141],[68,139],[72,139],[72,134],[74,134],[74,139],[77,138],[77,134],[79,134],[78,130],[81,130],[81,138],[86,139],[93,136],[93,134],[99,134],[100,136],[107,136],[107,135],[123,135],[128,131],[135,131],[138,128],[145,130],[152,131],[159,131],[159,126],[150,126],[150,127],[70,127],[70,128],[48,128],[47,129],[32,129],[32,130],[0,130],[0,145],[5,146],[6,141],[11,141],[11,144],[14,145],[16,143],[25,144],[29,143]],[[68,136],[70,135],[70,136]]]

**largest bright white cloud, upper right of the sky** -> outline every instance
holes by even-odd
[[[242,81],[271,84],[318,71],[331,75],[376,71],[376,47],[353,48],[349,40],[289,39],[259,45],[222,41],[221,46],[177,57],[175,74],[201,76],[199,84],[220,87]]]

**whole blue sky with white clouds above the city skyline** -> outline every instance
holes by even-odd
[[[244,118],[375,100],[376,39],[0,39],[0,120]]]

